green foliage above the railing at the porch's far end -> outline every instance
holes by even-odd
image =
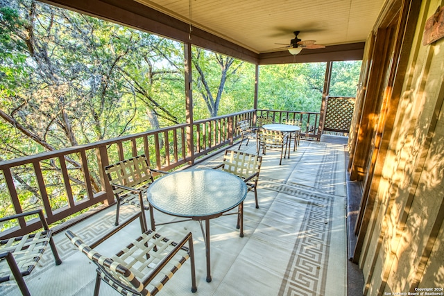
[[[319,112],[325,62],[272,64],[259,70],[259,109]],[[329,96],[356,95],[361,61],[333,62]]]

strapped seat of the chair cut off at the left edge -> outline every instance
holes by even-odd
[[[51,230],[10,238],[0,242],[0,253],[10,252],[22,275],[29,275],[51,239]],[[0,261],[0,282],[12,279],[12,272],[6,260]]]

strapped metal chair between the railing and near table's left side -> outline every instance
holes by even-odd
[[[143,195],[146,189],[154,182],[153,173],[165,174],[167,172],[150,168],[146,156],[139,155],[106,166],[105,173],[108,175],[112,192],[117,200],[116,222],[114,225],[119,225],[121,204],[128,203],[142,210],[145,228],[147,228],[144,210],[148,210],[148,205],[144,204]]]

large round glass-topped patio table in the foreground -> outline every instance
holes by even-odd
[[[155,180],[146,191],[150,204],[151,229],[155,230],[153,208],[172,216],[198,220],[205,241],[207,281],[211,281],[210,219],[239,207],[237,227],[244,236],[244,200],[247,186],[241,178],[214,169],[176,171]],[[205,231],[202,221],[205,221]],[[184,220],[175,221],[182,222]],[[162,225],[162,224],[157,224]]]

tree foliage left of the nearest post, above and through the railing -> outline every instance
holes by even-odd
[[[37,1],[1,4],[0,161],[185,121],[182,44]],[[67,165],[82,199],[79,155]],[[58,159],[40,166],[53,209],[64,206]],[[24,210],[40,207],[33,168],[11,173]],[[87,182],[100,191],[96,180],[92,171]]]

